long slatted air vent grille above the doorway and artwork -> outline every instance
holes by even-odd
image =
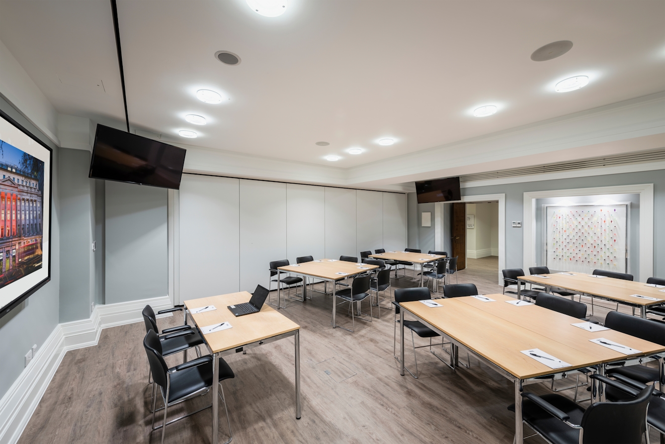
[[[616,156],[595,157],[585,160],[571,160],[569,162],[525,166],[523,168],[511,168],[508,170],[479,172],[477,174],[466,174],[460,176],[460,182],[475,182],[477,180],[529,176],[533,174],[545,174],[548,172],[587,170],[590,168],[602,168],[603,166],[658,162],[662,160],[665,160],[665,149],[631,152],[618,154]]]

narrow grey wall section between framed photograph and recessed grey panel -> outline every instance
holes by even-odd
[[[60,322],[90,317],[94,300],[94,179],[88,178],[90,152],[60,148],[62,246]],[[92,291],[91,291],[92,288]]]

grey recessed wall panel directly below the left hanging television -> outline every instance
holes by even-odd
[[[168,191],[106,182],[106,304],[168,294]]]

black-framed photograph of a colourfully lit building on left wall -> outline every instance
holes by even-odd
[[[52,161],[0,111],[0,318],[51,280]]]

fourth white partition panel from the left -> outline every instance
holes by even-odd
[[[326,257],[358,256],[356,190],[326,188]]]

